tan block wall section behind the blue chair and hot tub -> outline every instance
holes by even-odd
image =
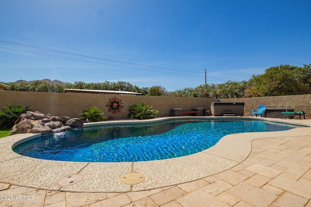
[[[244,102],[244,115],[251,116],[252,109],[257,110],[258,105],[265,105],[268,109],[294,109],[303,110],[306,119],[311,119],[311,95],[269,96],[254,98],[224,98],[221,102]]]

